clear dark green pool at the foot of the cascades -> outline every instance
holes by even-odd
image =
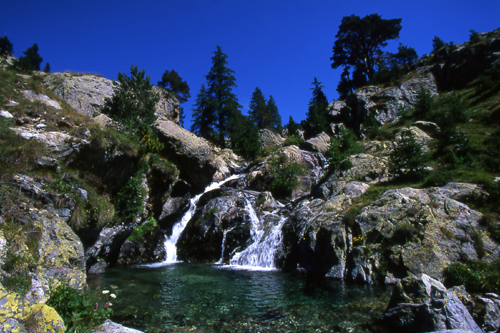
[[[384,288],[216,265],[116,269],[92,282],[118,287],[113,320],[149,332],[371,332],[390,296]]]

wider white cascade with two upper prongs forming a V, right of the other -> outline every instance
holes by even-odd
[[[252,221],[251,236],[253,243],[245,250],[236,253],[229,263],[236,266],[251,266],[267,269],[276,268],[274,264],[274,254],[281,246],[283,238],[281,229],[283,224],[285,224],[286,218],[282,216],[279,223],[273,226],[266,234],[264,226],[248,200],[246,209]]]

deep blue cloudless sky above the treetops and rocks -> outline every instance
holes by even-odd
[[[341,69],[331,69],[330,57],[343,16],[402,18],[399,41],[386,50],[402,42],[419,56],[431,51],[435,35],[460,44],[469,29],[500,27],[499,0],[3,0],[0,7],[0,35],[14,55],[37,43],[53,72],[116,79],[134,64],[156,83],[175,69],[191,88],[187,128],[216,45],[235,71],[243,112],[258,86],[273,95],[286,123],[290,115],[305,118],[314,77],[329,101],[338,97]]]

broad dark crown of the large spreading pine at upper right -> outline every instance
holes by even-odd
[[[333,56],[330,58],[332,68],[353,66],[355,72],[359,71],[372,80],[376,60],[382,55],[381,48],[387,46],[388,40],[398,38],[400,30],[401,19],[386,20],[378,14],[363,18],[344,16],[335,35]]]

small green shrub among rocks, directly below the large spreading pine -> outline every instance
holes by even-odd
[[[331,138],[330,149],[325,153],[325,157],[330,163],[330,171],[345,170],[352,167],[349,163],[343,162],[351,155],[359,154],[364,151],[358,143],[356,134],[351,129],[341,128],[340,138]]]

